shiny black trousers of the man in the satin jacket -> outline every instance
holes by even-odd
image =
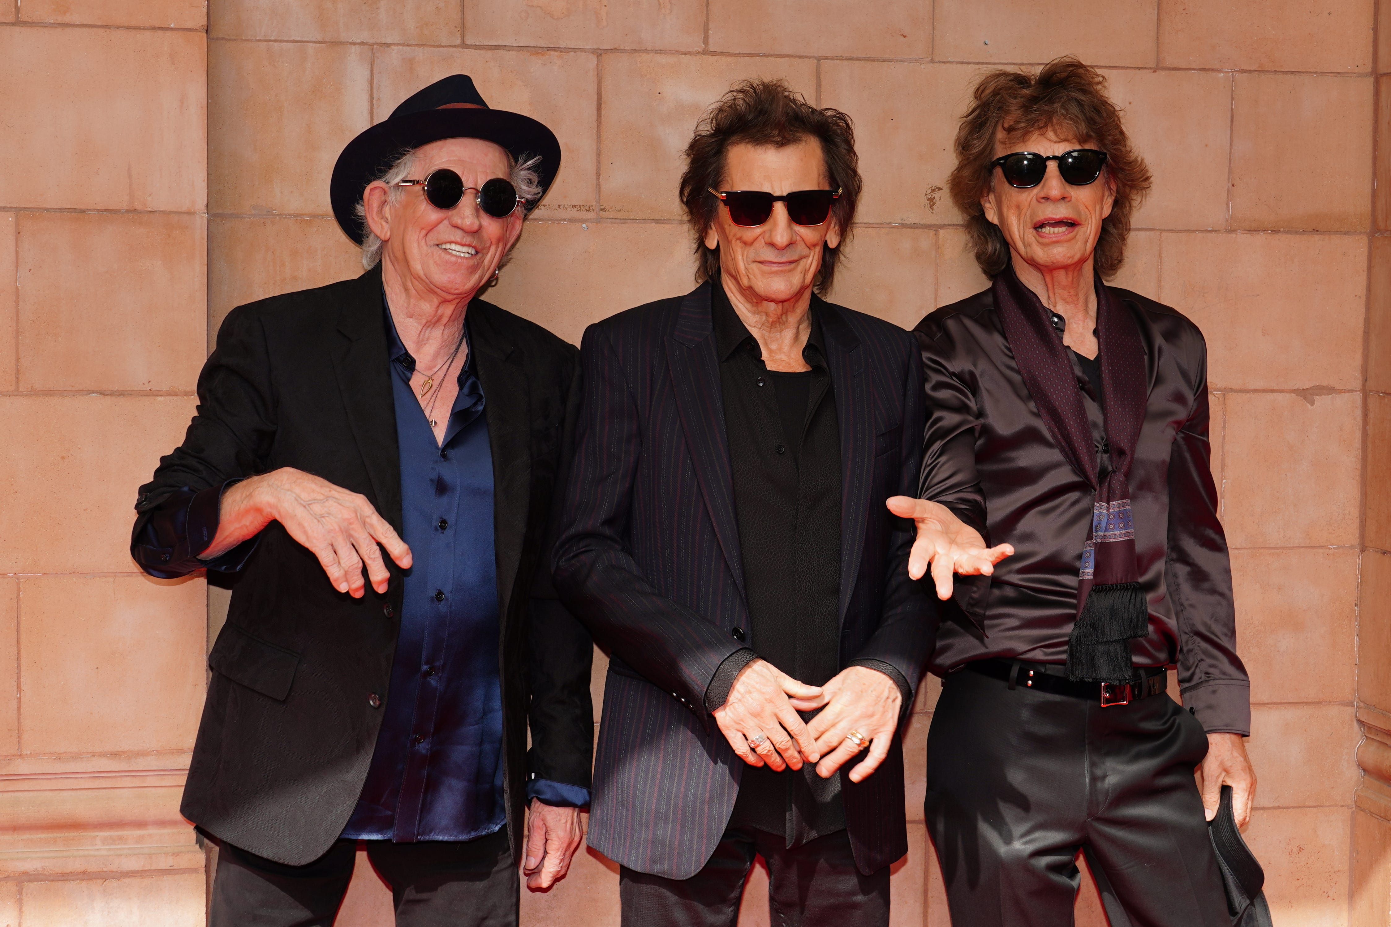
[[[1102,707],[949,674],[926,823],[953,927],[1072,924],[1078,849],[1111,927],[1230,927],[1193,782],[1206,753],[1202,724],[1166,695]]]

